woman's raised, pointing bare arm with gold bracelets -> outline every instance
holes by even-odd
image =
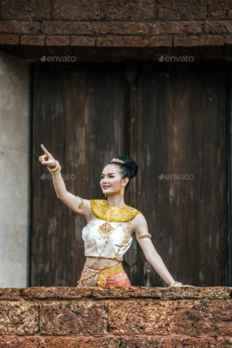
[[[45,155],[40,156],[39,161],[43,165],[48,165],[50,169],[54,168],[57,163],[56,160],[46,150],[43,144],[41,144],[41,147]],[[60,172],[56,175],[52,175],[52,181],[56,191],[57,198],[59,198],[61,202],[63,202],[71,210],[78,212],[84,215],[85,217],[87,217],[90,214],[90,211],[91,211],[90,201],[88,199],[82,199],[82,202],[81,202],[80,198],[78,198],[74,194],[67,191],[64,180]]]

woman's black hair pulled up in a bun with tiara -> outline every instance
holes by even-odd
[[[131,179],[138,173],[138,164],[130,156],[119,156],[118,160],[122,160],[125,163],[109,162],[108,164],[115,164],[118,166],[118,171],[122,176],[122,179],[129,178],[127,185],[125,186],[125,193],[130,185]]]

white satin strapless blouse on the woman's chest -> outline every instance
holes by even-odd
[[[111,226],[116,227],[116,229],[106,239],[102,238],[97,230],[104,222],[106,220],[103,219],[90,220],[83,228],[82,239],[84,240],[85,256],[97,257],[103,249],[99,257],[112,258],[114,256],[118,261],[122,261],[123,255],[131,246],[133,237],[122,228],[122,225],[116,227],[118,222],[110,221]],[[108,243],[106,243],[107,239]],[[126,242],[123,242],[123,239]],[[106,247],[103,248],[105,244]],[[121,247],[121,244],[124,244],[124,246]],[[118,251],[118,248],[121,248],[121,250]],[[115,255],[116,252],[117,255]]]

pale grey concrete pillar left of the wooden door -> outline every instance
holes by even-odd
[[[0,52],[0,287],[28,285],[28,62]]]

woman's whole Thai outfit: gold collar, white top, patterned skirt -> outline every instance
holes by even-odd
[[[85,256],[106,259],[114,257],[119,263],[116,266],[103,267],[103,270],[87,268],[88,265],[85,263],[80,279],[92,275],[96,270],[100,271],[88,279],[81,280],[77,287],[131,286],[130,279],[122,267],[122,261],[123,255],[132,243],[132,236],[128,232],[130,220],[140,211],[130,206],[124,206],[119,213],[121,207],[109,206],[107,200],[90,200],[90,203],[98,219],[89,221],[82,230]],[[109,207],[111,211],[107,215],[106,210]],[[122,218],[124,218],[123,221],[128,221],[126,230],[121,225],[118,226],[118,222],[121,222]]]

